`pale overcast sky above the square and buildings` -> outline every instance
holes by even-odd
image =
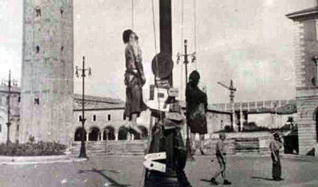
[[[86,94],[125,99],[122,31],[133,26],[147,77],[144,98],[149,97],[151,60],[160,49],[158,2],[153,19],[150,0],[134,0],[133,12],[129,0],[73,0],[74,64],[82,65],[84,55],[93,69]],[[292,21],[285,14],[316,6],[316,0],[197,0],[196,12],[194,0],[172,3],[173,60],[188,39],[188,52],[197,53],[189,72],[200,72],[209,103],[229,101],[229,92],[216,82],[228,85],[230,79],[235,101],[294,99]],[[21,21],[22,0],[0,0],[0,78],[7,79],[9,69],[21,78]],[[175,64],[174,87],[184,89],[184,76],[184,66]],[[81,89],[75,77],[75,93]]]

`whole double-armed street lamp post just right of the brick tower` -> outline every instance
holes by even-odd
[[[86,148],[85,148],[85,143],[84,143],[84,124],[85,124],[85,113],[84,113],[84,85],[85,85],[85,72],[88,71],[88,76],[91,76],[92,75],[92,72],[91,72],[91,68],[86,68],[85,69],[85,57],[83,56],[83,68],[80,69],[76,66],[76,71],[75,71],[75,75],[76,77],[79,77],[78,75],[78,72],[79,71],[82,71],[82,119],[80,119],[82,121],[82,143],[81,143],[81,149],[80,149],[80,152],[79,152],[79,158],[87,158],[86,156]]]

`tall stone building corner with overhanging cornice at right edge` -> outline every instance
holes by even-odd
[[[299,154],[306,155],[318,140],[318,7],[286,17],[294,21]]]

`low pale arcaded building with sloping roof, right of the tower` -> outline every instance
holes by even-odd
[[[84,99],[84,134],[86,141],[105,141],[118,139],[140,139],[131,137],[124,128],[127,120],[124,117],[124,102],[108,97],[85,96]],[[142,116],[145,116],[142,114]],[[74,95],[73,126],[69,130],[73,141],[82,140],[82,95]],[[147,137],[149,123],[141,123],[138,128]]]

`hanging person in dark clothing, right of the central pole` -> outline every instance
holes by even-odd
[[[196,133],[200,135],[200,152],[203,152],[205,134],[207,134],[207,95],[198,88],[200,74],[194,70],[189,75],[189,83],[185,90],[185,100],[187,101],[187,124],[191,130],[191,154],[196,152],[195,137]]]

